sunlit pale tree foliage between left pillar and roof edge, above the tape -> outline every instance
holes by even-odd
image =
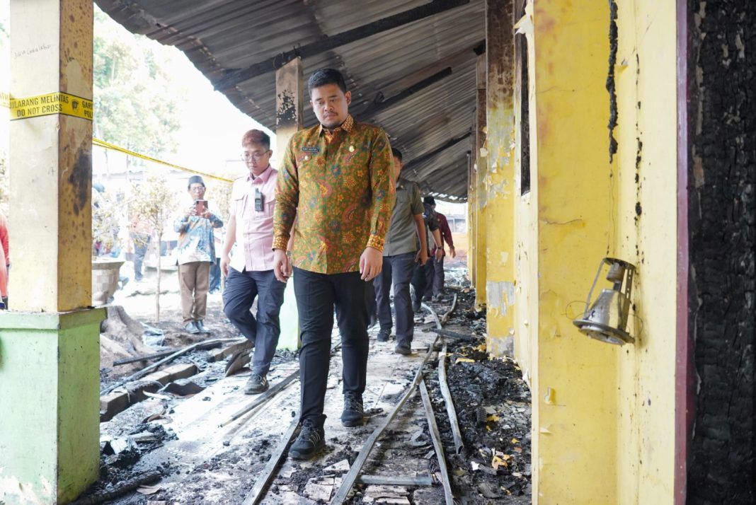
[[[166,85],[175,50],[132,35],[95,9],[93,57],[95,137],[148,156],[175,151],[180,94]]]

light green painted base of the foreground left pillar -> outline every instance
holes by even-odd
[[[98,479],[105,317],[0,313],[0,502],[67,503]]]

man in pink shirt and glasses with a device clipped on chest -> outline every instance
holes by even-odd
[[[280,307],[286,284],[273,273],[273,208],[277,171],[270,165],[271,139],[249,130],[241,140],[249,175],[234,180],[231,217],[221,256],[226,277],[223,312],[255,348],[244,393],[268,390],[266,375],[278,345]],[[236,244],[233,256],[231,248]],[[257,300],[256,318],[249,312]]]

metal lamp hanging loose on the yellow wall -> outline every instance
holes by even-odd
[[[606,280],[612,282],[612,288],[601,290],[601,294],[591,305],[590,297],[593,295],[593,288],[596,287],[596,281],[599,280],[605,264],[609,265]],[[633,288],[634,273],[635,266],[627,263],[627,261],[612,257],[605,257],[601,260],[596,278],[593,279],[593,285],[590,286],[588,298],[585,300],[583,317],[573,321],[573,324],[580,328],[581,333],[618,346],[635,342],[635,339],[625,331],[627,313],[630,312],[630,294]]]

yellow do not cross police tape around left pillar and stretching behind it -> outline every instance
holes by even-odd
[[[73,115],[82,119],[91,121],[93,119],[92,114],[92,102],[85,98],[76,97],[73,94],[68,93],[48,93],[41,94],[36,97],[26,98],[11,98],[8,93],[0,92],[0,106],[11,109],[11,121],[16,119],[34,118],[40,115],[50,114],[66,114]],[[92,138],[93,146],[100,146],[104,149],[111,149],[113,151],[123,152],[126,155],[134,156],[147,160],[148,162],[159,163],[160,165],[166,165],[167,167],[176,168],[185,172],[191,172],[192,174],[203,175],[204,177],[210,177],[211,179],[222,180],[227,183],[233,183],[231,179],[225,177],[218,177],[217,175],[208,174],[198,170],[192,170],[191,168],[182,167],[180,165],[174,165],[169,162],[163,162],[163,160],[153,158],[139,152],[132,151],[131,149],[125,149],[125,147],[116,146],[114,143],[106,142],[98,138]]]

